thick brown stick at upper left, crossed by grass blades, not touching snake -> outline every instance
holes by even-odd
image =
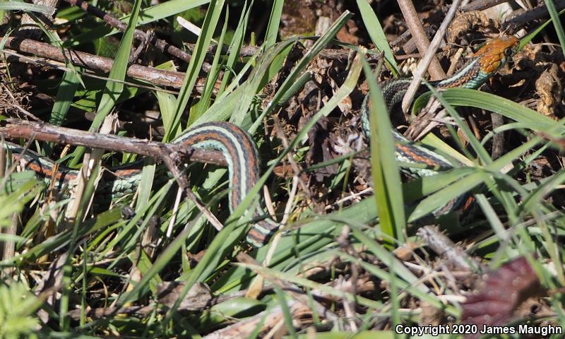
[[[61,62],[70,61],[75,66],[85,67],[95,71],[109,73],[114,65],[114,61],[105,57],[98,57],[93,54],[76,52],[72,49],[59,49],[44,42],[19,37],[8,37],[6,47],[16,51],[35,54]],[[164,71],[139,65],[131,65],[127,69],[127,75],[131,78],[148,81],[154,85],[181,88],[184,80],[184,73],[174,71]]]

